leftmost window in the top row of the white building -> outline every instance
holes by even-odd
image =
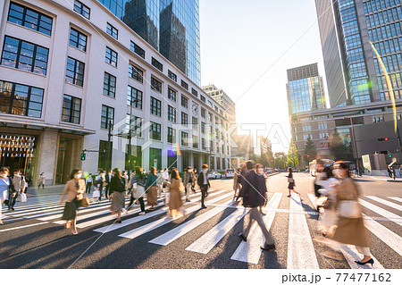
[[[11,3],[7,21],[23,27],[37,30],[38,32],[50,36],[52,33],[53,19],[43,13],[29,9],[20,4]]]

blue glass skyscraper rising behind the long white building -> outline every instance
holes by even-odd
[[[200,84],[198,0],[98,1]]]

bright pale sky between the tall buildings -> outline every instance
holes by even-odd
[[[319,63],[325,80],[314,0],[200,0],[200,37],[202,85],[236,101],[238,123],[265,123],[266,133],[280,123],[290,139],[286,70]]]

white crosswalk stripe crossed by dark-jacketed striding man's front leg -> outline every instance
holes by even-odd
[[[270,201],[268,202],[267,208],[272,209],[273,211],[268,213],[263,217],[264,223],[266,225],[266,229],[270,231],[273,219],[276,214],[276,209],[278,208],[281,202],[282,193],[275,193]],[[262,249],[260,246],[263,246],[265,243],[265,237],[263,231],[255,222],[251,227],[250,232],[248,233],[247,242],[241,242],[239,247],[234,252],[233,256],[230,259],[242,261],[249,264],[258,264],[260,260],[260,256],[262,253]]]

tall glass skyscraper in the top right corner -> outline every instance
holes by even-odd
[[[402,9],[400,0],[315,0],[330,105],[389,100],[376,54],[402,96]]]

